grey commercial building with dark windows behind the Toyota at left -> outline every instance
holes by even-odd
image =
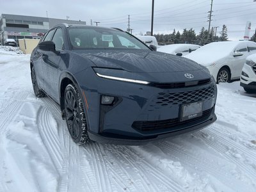
[[[0,42],[1,45],[7,38],[16,40],[22,38],[41,38],[46,31],[59,23],[86,24],[81,20],[53,19],[47,17],[31,17],[25,15],[2,14],[0,17]]]

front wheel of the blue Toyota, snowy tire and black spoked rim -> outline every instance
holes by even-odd
[[[78,145],[88,143],[86,115],[79,91],[73,84],[68,84],[64,93],[64,111],[68,132]]]

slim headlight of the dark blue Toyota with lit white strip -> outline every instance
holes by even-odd
[[[106,79],[113,79],[117,81],[126,81],[131,83],[140,83],[140,84],[149,84],[148,81],[142,81],[138,79],[132,78],[134,76],[134,73],[127,72],[125,70],[119,70],[119,69],[112,69],[112,68],[96,68],[93,67],[93,70],[97,76],[106,78]]]

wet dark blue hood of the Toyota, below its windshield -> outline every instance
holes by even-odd
[[[80,55],[91,60],[97,67],[119,68],[128,72],[188,72],[204,69],[195,61],[156,51],[97,50],[84,51]]]

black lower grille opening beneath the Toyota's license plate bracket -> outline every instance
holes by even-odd
[[[176,127],[176,129],[182,129],[182,127],[187,126],[189,123],[195,123],[204,121],[211,115],[212,108],[203,111],[203,115],[198,118],[193,118],[191,120],[186,120],[184,122],[180,122],[179,118],[172,118],[168,120],[157,120],[157,121],[136,121],[133,122],[132,127],[134,129],[138,129],[140,131],[152,131],[157,129],[168,129],[171,127]],[[176,129],[173,129],[175,131]]]

